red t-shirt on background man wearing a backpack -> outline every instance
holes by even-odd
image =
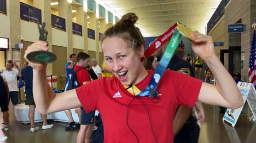
[[[83,66],[75,65],[74,71],[78,69],[82,69],[77,72],[77,81],[79,85],[82,86],[83,82],[90,82],[90,75],[88,71],[85,70]]]

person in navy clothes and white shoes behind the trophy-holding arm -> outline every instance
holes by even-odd
[[[28,111],[28,118],[30,119],[30,132],[35,132],[39,129],[38,126],[34,125],[34,110],[36,108],[36,104],[34,103],[33,97],[33,68],[30,65],[27,65],[24,69],[21,70],[21,79],[25,83],[25,94],[26,101],[25,105],[28,105],[30,110]],[[40,114],[43,120],[42,129],[53,128],[53,124],[48,125],[47,115]]]

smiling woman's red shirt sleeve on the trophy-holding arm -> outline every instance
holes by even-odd
[[[102,92],[100,84],[101,81],[102,80],[94,80],[75,89],[77,97],[86,113],[96,110],[98,96],[100,96]]]

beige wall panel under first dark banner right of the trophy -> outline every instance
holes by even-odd
[[[68,47],[66,32],[51,28],[51,38],[52,45]]]

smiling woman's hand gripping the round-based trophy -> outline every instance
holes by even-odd
[[[37,64],[37,63],[32,63],[30,60],[27,59],[27,54],[34,52],[34,51],[48,51],[48,43],[44,41],[37,41],[34,42],[32,45],[28,46],[24,58],[25,60],[28,61],[28,64],[33,67],[34,70],[45,70],[47,64]]]

